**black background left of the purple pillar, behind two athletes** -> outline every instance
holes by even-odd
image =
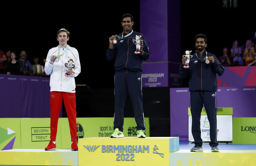
[[[86,3],[86,2],[84,2]],[[83,4],[84,4],[83,3]],[[33,57],[47,56],[52,47],[59,45],[57,31],[66,28],[70,32],[68,45],[78,50],[81,73],[76,84],[87,84],[90,88],[114,87],[114,62],[106,58],[108,38],[123,31],[121,19],[124,13],[134,16],[135,31],[140,31],[140,1],[90,2],[90,5],[52,4],[15,8],[2,15],[0,50],[27,51],[33,65]],[[91,11],[91,12],[90,12]]]

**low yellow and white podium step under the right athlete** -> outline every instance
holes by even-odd
[[[228,166],[228,165],[256,165],[256,150],[221,150],[220,152],[190,152],[180,150],[170,153],[169,166],[201,165],[201,166]]]

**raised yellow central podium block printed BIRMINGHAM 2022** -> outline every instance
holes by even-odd
[[[178,137],[80,138],[79,165],[169,165]],[[100,159],[100,160],[99,160]],[[146,160],[145,160],[146,159]]]

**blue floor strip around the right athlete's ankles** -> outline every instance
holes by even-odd
[[[189,143],[188,141],[180,141],[180,150],[189,150],[193,146],[194,146],[194,143]],[[220,143],[218,148],[220,150],[256,150],[256,145]],[[211,147],[209,146],[209,143],[203,143],[203,149],[210,150]]]

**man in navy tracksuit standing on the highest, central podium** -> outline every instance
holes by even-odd
[[[137,123],[137,130],[141,133],[137,137],[145,138],[144,131],[146,130],[143,113],[142,99],[142,60],[147,60],[149,57],[148,46],[145,37],[132,30],[133,17],[130,14],[125,14],[122,19],[123,33],[118,36],[109,38],[109,48],[107,50],[107,59],[115,60],[115,114],[114,114],[114,129],[119,131],[112,134],[111,138],[124,137],[124,105],[126,94],[128,93],[132,101],[134,117]],[[135,36],[141,35],[143,43],[140,44],[140,53],[135,54],[136,45],[133,41]],[[122,37],[121,37],[122,36]],[[117,41],[116,44],[115,40]],[[114,40],[114,43],[113,43]]]

